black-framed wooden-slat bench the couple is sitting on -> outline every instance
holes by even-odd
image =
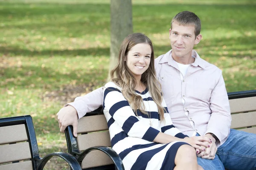
[[[256,133],[256,90],[232,92],[228,96],[233,119],[231,128]],[[76,157],[83,170],[114,170],[114,164],[116,169],[124,169],[121,159],[109,148],[108,125],[101,108],[79,119],[77,138],[73,136],[72,126],[66,128],[65,134],[68,152]]]

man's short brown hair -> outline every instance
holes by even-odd
[[[188,25],[195,25],[195,36],[198,36],[201,32],[201,20],[199,17],[189,11],[183,11],[175,15],[174,18],[172,18],[172,23],[178,23],[182,26],[188,26]],[[172,23],[171,23],[171,29],[172,29]]]

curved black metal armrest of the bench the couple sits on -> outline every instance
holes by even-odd
[[[88,153],[90,153],[90,151],[92,151],[92,150],[100,150],[100,151],[106,153],[112,159],[112,161],[114,162],[114,164],[116,166],[116,170],[125,170],[125,167],[122,163],[122,159],[119,157],[119,155],[113,149],[111,149],[109,147],[104,147],[104,146],[90,147],[90,148],[84,150],[83,152],[81,152],[79,154],[79,158],[77,159],[79,164],[81,164],[84,157]]]

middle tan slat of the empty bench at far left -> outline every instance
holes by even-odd
[[[29,142],[0,146],[0,164],[31,158]]]

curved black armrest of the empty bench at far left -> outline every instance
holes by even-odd
[[[47,161],[49,161],[54,156],[64,159],[70,165],[71,170],[82,170],[80,164],[74,156],[63,152],[50,153],[44,158],[35,158],[36,161],[38,161],[37,170],[43,170]]]

